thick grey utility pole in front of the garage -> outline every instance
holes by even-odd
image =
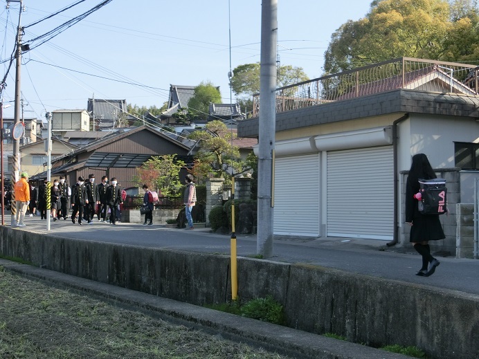
[[[278,1],[261,8],[260,143],[257,181],[257,254],[273,256],[273,160],[276,121],[276,38]]]

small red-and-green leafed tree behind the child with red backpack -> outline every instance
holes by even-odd
[[[180,169],[185,167],[176,155],[154,156],[136,169],[134,182],[160,191],[163,196],[174,196],[183,185],[179,180]]]

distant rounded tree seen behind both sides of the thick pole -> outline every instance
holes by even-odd
[[[297,84],[307,81],[309,77],[305,74],[302,67],[293,67],[284,65],[278,68],[277,87]],[[251,97],[251,95],[260,92],[260,64],[239,65],[233,70],[231,78],[231,89],[235,95]]]

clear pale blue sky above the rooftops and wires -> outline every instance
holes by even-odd
[[[3,78],[14,50],[20,3],[11,2],[7,9],[1,1]],[[78,1],[22,0],[22,42],[32,47],[21,59],[24,118],[86,109],[93,97],[161,107],[170,84],[211,82],[220,87],[222,102],[231,103],[230,62],[231,69],[260,62],[261,0],[112,0],[44,44],[42,39],[30,42],[102,3],[85,0],[34,24]],[[280,64],[302,67],[311,79],[320,77],[332,33],[348,19],[365,17],[371,1],[279,0]],[[3,116],[13,118],[15,62],[6,85]]]

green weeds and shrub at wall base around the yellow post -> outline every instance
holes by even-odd
[[[284,325],[286,322],[282,304],[276,302],[271,295],[267,295],[265,298],[248,300],[245,303],[237,301],[222,304],[206,304],[205,306],[216,311],[262,320],[262,322],[280,325]]]

